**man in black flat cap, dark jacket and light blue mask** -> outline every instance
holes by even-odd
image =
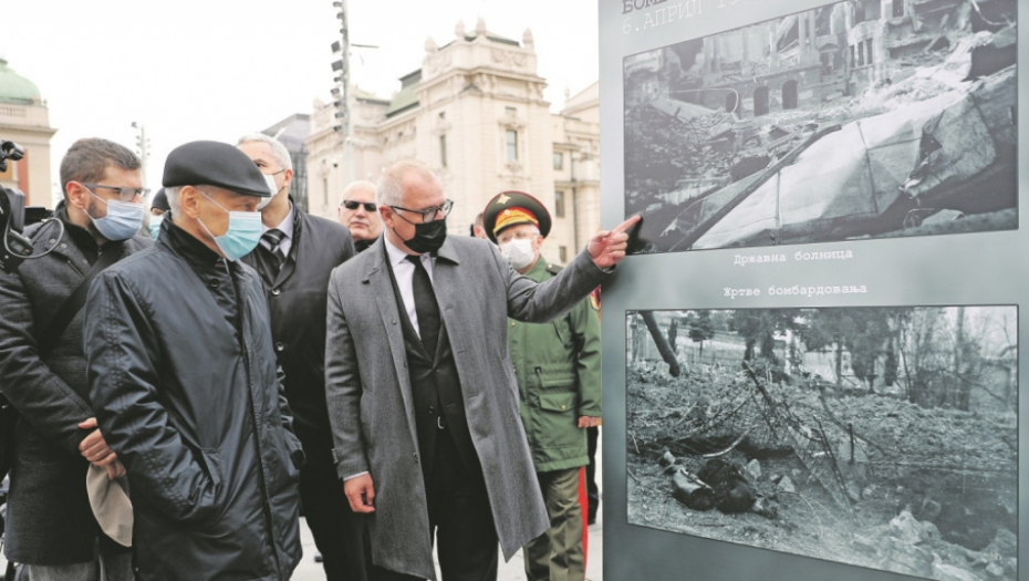
[[[84,332],[93,408],[128,474],[137,579],[285,580],[304,455],[260,277],[239,262],[271,191],[216,142],[174,149],[164,186],[172,219],[93,283]]]

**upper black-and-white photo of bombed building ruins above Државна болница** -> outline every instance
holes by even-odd
[[[851,0],[625,58],[631,252],[1017,229],[1016,12]]]

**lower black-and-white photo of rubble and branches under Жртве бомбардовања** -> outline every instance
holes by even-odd
[[[630,311],[630,525],[1018,577],[1014,305]]]

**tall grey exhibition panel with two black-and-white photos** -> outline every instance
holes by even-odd
[[[1027,577],[1018,2],[599,9],[605,579]]]

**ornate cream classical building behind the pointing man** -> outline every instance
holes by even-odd
[[[391,98],[350,97],[351,131],[334,128],[336,107],[315,102],[308,149],[308,207],[333,217],[353,179],[376,180],[394,162],[432,165],[456,204],[451,235],[467,235],[496,194],[518,189],[554,216],[544,246],[565,262],[600,224],[597,87],[570,96],[560,114],[543,100],[532,33],[521,42],[458,23],[443,44],[426,41],[422,66],[401,77]],[[344,143],[345,139],[345,143]]]

